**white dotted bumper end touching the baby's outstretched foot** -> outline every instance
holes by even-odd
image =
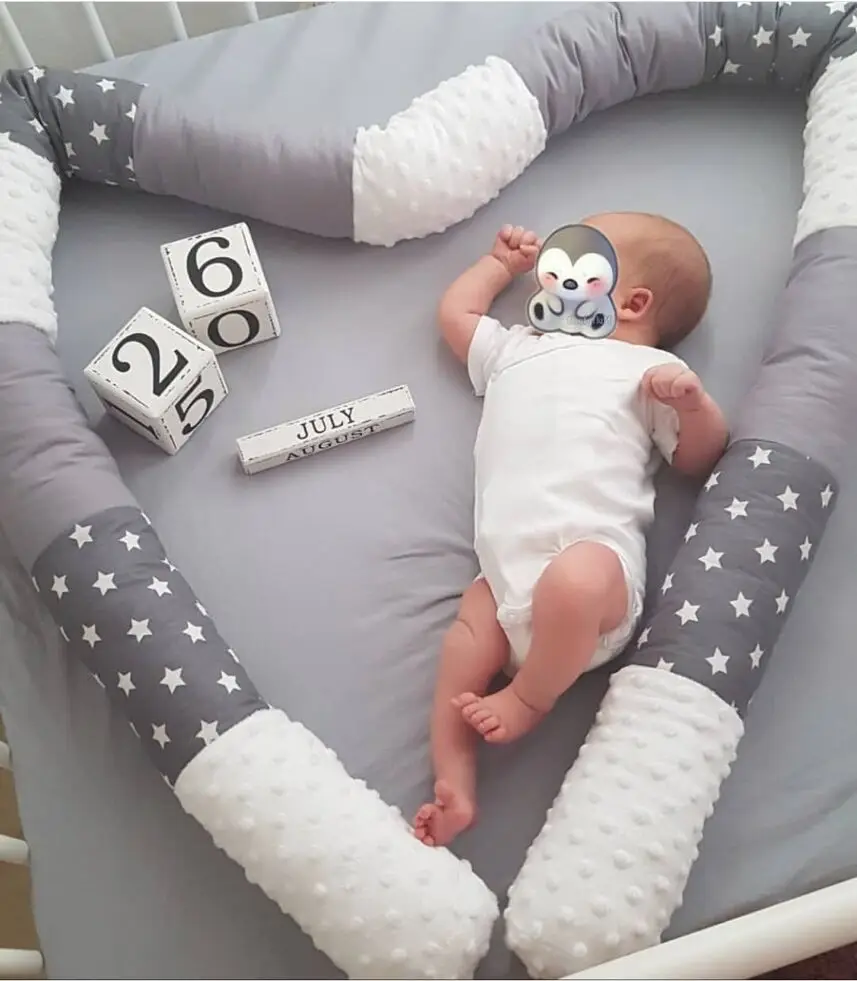
[[[283,712],[256,712],[202,750],[186,811],[351,978],[472,978],[497,918],[470,865],[428,848]]]

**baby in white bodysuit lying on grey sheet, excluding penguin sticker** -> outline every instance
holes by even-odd
[[[583,224],[606,235],[618,258],[609,337],[507,330],[486,316],[535,264],[540,243],[520,227],[504,227],[440,304],[443,336],[484,396],[475,449],[480,576],[440,654],[435,796],[414,819],[427,845],[448,844],[474,820],[477,735],[492,743],[524,735],[631,638],[645,592],[654,449],[701,476],[726,446],[723,413],[668,350],[708,304],[702,247],[655,215]],[[504,669],[511,681],[486,695]]]

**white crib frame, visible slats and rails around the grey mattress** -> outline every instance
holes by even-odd
[[[316,5],[298,3],[296,9]],[[104,61],[112,60],[115,52],[96,4],[80,0],[79,6],[100,57]],[[167,9],[174,40],[187,40],[190,34],[180,4],[161,0],[159,6]],[[259,6],[255,0],[240,4],[245,23],[260,19]],[[0,35],[9,43],[20,68],[36,64],[30,45],[5,2],[0,2]],[[0,768],[9,766],[9,748],[0,743]],[[0,836],[0,862],[27,861],[25,842]],[[565,975],[562,981],[598,978],[740,981],[854,942],[857,942],[857,877]],[[42,957],[37,951],[0,950],[0,977],[32,976],[42,969]]]

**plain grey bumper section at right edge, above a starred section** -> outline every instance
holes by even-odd
[[[736,439],[785,443],[838,474],[857,419],[855,304],[857,229],[826,229],[800,242]]]

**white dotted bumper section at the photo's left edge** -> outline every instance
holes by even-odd
[[[0,133],[0,324],[24,323],[56,339],[51,253],[59,226],[53,166]]]

